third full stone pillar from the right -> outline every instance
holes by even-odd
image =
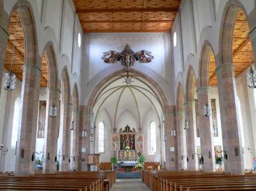
[[[197,149],[195,147],[195,138],[197,136],[197,124],[195,116],[195,102],[187,101],[185,103],[185,119],[189,121],[189,129],[186,130],[187,136],[187,156],[189,157],[189,162],[187,163],[188,170],[198,169],[198,158]]]

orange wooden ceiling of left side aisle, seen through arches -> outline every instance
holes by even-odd
[[[18,19],[18,20],[16,20]],[[24,45],[24,33],[22,29],[21,19],[17,10],[14,11],[11,17],[10,25],[9,25],[9,39],[6,46],[6,57],[4,61],[4,68],[6,70],[10,70],[11,68],[11,60],[12,60],[12,49],[14,45],[14,34],[15,27],[17,21],[17,32],[16,32],[16,41],[14,47],[14,57],[12,62],[12,73],[16,75],[16,77],[22,81],[22,66],[24,65],[24,53],[25,53],[25,45]],[[42,75],[40,80],[40,86],[46,87],[48,82],[47,77],[47,57],[46,54],[43,54],[42,57]]]

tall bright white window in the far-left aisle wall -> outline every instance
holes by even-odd
[[[14,114],[13,114],[13,121],[12,121],[11,147],[14,149],[16,147],[17,131],[19,129],[19,105],[20,105],[20,99],[17,98],[14,105]]]

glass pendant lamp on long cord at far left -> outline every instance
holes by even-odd
[[[21,1],[19,1],[19,6],[21,5]],[[19,10],[19,6],[18,9]],[[15,25],[15,32],[14,32],[14,42],[12,47],[12,58],[11,58],[11,68],[9,72],[6,73],[6,77],[4,79],[4,90],[14,90],[15,83],[16,83],[16,75],[12,73],[12,63],[14,58],[14,49],[16,43],[16,34],[17,34],[17,21],[19,20],[19,11],[17,11],[17,18],[16,18],[16,25]]]

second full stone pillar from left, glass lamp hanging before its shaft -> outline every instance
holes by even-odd
[[[43,173],[54,173],[57,170],[55,156],[57,154],[57,139],[59,130],[59,116],[60,116],[60,93],[59,90],[47,89],[46,102],[46,129],[44,133],[44,163]],[[56,118],[51,118],[50,107],[57,106]]]

